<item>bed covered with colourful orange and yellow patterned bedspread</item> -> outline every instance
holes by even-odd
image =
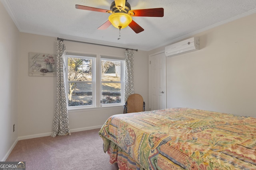
[[[99,131],[119,170],[256,170],[256,118],[189,108],[119,114]]]

